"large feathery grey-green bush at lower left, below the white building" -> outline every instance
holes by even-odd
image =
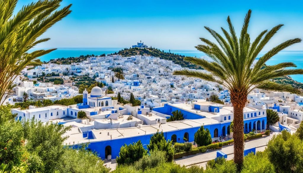
[[[44,163],[39,172],[54,172],[61,164],[58,160],[64,153],[63,142],[68,138],[62,135],[70,128],[49,122],[43,124],[34,119],[23,122],[26,150],[37,155]]]

